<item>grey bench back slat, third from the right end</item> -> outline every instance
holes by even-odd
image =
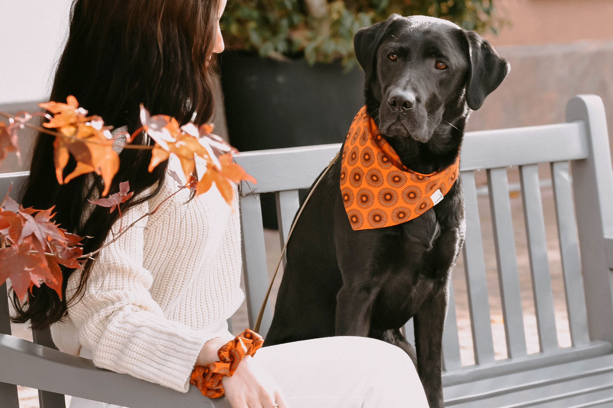
[[[519,275],[517,275],[515,237],[513,235],[506,168],[488,169],[487,185],[490,195],[507,353],[509,358],[524,357],[527,354],[524,315],[522,313]]]

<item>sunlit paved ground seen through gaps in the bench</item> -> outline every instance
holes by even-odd
[[[541,180],[549,178],[547,166],[540,168]],[[483,190],[487,185],[485,171],[476,172],[478,187]],[[519,182],[519,174],[516,168],[509,168],[509,183]],[[562,280],[562,265],[560,263],[560,253],[557,238],[557,226],[555,222],[554,199],[551,187],[541,188],[543,197],[543,210],[546,222],[547,249],[549,256],[550,275],[554,291],[554,305],[557,325],[558,343],[561,347],[571,346],[568,329],[568,317],[566,314],[565,292]],[[511,198],[511,210],[513,217],[513,228],[515,234],[515,245],[517,251],[517,266],[519,269],[519,280],[522,292],[522,306],[524,308],[524,324],[528,353],[539,351],[538,334],[536,330],[535,308],[532,294],[530,277],[530,262],[528,259],[527,240],[525,234],[524,216],[522,210],[522,198],[518,191],[509,193]],[[496,358],[506,358],[506,340],[504,337],[504,324],[500,305],[500,290],[498,287],[498,276],[496,266],[496,256],[493,246],[492,221],[490,217],[489,200],[487,195],[480,195],[478,199],[479,213],[481,215],[481,233],[484,240],[485,266],[487,274],[488,293],[490,300],[490,313],[492,316],[492,334],[494,339],[494,350]],[[273,268],[280,256],[280,245],[278,231],[264,231],[265,246],[267,248],[267,261],[269,276],[272,277]],[[273,291],[271,293],[272,305],[275,304],[276,293],[281,281],[281,276],[277,277]],[[463,259],[457,262],[453,271],[453,283],[455,291],[455,307],[457,314],[460,353],[463,365],[474,364],[472,348],[472,336],[470,327],[470,316],[468,314],[468,299],[466,297],[466,281],[463,269]],[[232,317],[234,332],[240,333],[243,328],[248,327],[246,305]],[[15,335],[31,339],[31,334],[23,327],[14,327]],[[38,407],[36,390],[20,387],[21,408]]]

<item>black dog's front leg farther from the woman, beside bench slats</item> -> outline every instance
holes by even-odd
[[[443,408],[441,349],[447,310],[444,290],[429,296],[414,316],[417,372],[424,385],[430,408]]]

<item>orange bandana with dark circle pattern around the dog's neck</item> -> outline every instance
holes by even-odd
[[[351,228],[383,228],[419,217],[443,199],[459,168],[460,157],[443,171],[409,170],[363,106],[351,123],[341,159],[340,187]]]

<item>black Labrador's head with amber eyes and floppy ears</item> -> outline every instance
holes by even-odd
[[[481,108],[510,69],[487,40],[433,17],[391,15],[360,29],[354,48],[381,133],[418,143]]]

